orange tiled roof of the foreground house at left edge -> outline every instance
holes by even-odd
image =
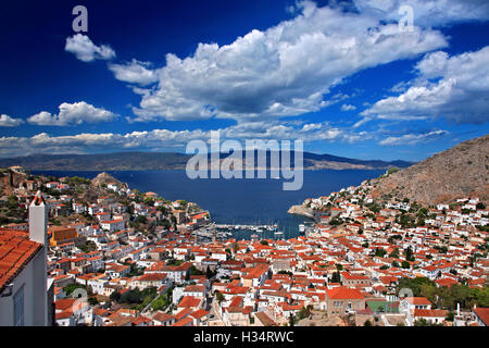
[[[0,293],[41,248],[25,232],[0,228]]]

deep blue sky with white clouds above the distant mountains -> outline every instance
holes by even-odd
[[[9,1],[0,21],[0,157],[184,152],[221,129],[417,161],[488,134],[484,0]]]

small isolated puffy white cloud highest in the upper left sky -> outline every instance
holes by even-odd
[[[73,37],[66,38],[64,49],[84,62],[91,62],[96,59],[111,60],[115,58],[115,52],[110,46],[97,46],[88,36],[83,34],[75,34]]]

